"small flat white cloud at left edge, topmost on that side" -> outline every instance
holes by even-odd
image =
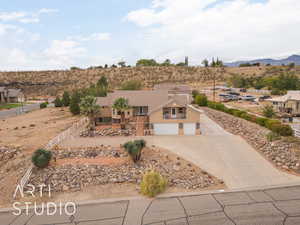
[[[19,23],[39,23],[43,14],[57,13],[57,9],[40,9],[37,12],[0,12],[0,21]]]

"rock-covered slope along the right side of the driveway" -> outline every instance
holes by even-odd
[[[268,129],[255,123],[234,117],[224,112],[203,108],[206,115],[232,134],[243,137],[253,148],[261,152],[277,167],[300,173],[300,158],[295,153],[295,146],[284,140],[269,142]]]

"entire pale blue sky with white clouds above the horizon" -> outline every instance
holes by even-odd
[[[300,53],[299,11],[299,0],[4,1],[0,70],[284,57]]]

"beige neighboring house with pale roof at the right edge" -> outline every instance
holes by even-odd
[[[286,95],[267,99],[272,102],[274,110],[292,116],[300,115],[300,91],[288,91]]]

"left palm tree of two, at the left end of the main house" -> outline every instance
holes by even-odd
[[[87,116],[90,121],[90,130],[95,130],[95,115],[99,113],[100,106],[93,96],[86,96],[80,102],[80,113]]]

